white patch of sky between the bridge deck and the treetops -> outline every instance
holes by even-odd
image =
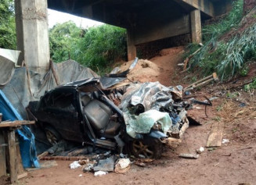
[[[58,12],[56,10],[48,9],[49,28],[52,28],[56,23],[65,23],[69,20],[72,20],[77,25],[77,27],[83,28],[94,27],[103,24],[95,20],[89,20],[80,16],[73,16],[65,12]]]

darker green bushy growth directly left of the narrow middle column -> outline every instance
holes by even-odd
[[[80,41],[77,60],[98,72],[126,57],[126,31],[107,24],[91,27]]]

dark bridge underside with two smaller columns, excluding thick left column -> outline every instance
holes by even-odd
[[[201,41],[201,20],[228,11],[231,0],[48,0],[49,9],[68,12],[128,30],[128,59],[135,45],[190,34]]]

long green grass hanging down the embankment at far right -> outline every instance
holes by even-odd
[[[239,28],[242,17],[243,0],[236,0],[233,3],[233,10],[224,19],[203,27],[204,46],[191,59],[191,67],[199,67],[203,75],[217,71],[221,80],[227,80],[236,73],[246,75],[244,63],[256,58],[256,24],[236,34],[235,37],[223,38],[223,34],[229,30]],[[200,46],[190,44],[189,54],[197,48]]]

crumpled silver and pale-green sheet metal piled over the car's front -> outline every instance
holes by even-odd
[[[161,107],[174,102],[171,94],[180,97],[182,86],[165,87],[159,82],[133,84],[121,99],[119,106],[124,112],[124,121],[128,134],[136,138],[137,133],[150,133],[154,123],[162,125],[164,133],[172,126],[172,121],[167,112],[159,112]],[[132,115],[129,111],[131,105],[143,105],[145,112],[139,116]]]

